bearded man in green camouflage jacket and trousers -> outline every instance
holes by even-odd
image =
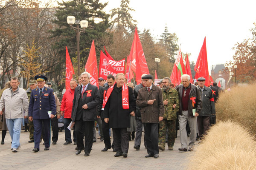
[[[159,122],[159,136],[158,148],[165,150],[166,143],[166,129],[168,129],[168,149],[173,150],[175,142],[175,126],[176,113],[179,111],[179,94],[171,88],[171,79],[169,77],[163,78],[163,105],[165,112],[163,114],[163,121]]]

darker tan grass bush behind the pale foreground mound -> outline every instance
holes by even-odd
[[[216,120],[237,122],[256,136],[256,84],[222,92],[215,105]]]

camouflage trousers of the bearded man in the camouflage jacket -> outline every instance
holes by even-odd
[[[175,131],[176,128],[176,119],[167,120],[163,119],[159,122],[159,134],[158,134],[158,144],[165,146],[166,143],[166,130],[168,130],[168,146],[173,147],[175,142]]]

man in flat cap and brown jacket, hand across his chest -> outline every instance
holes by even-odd
[[[141,77],[143,85],[136,100],[140,107],[141,120],[145,128],[148,155],[145,157],[158,158],[158,123],[163,120],[164,105],[162,91],[153,85],[153,77],[147,74]]]

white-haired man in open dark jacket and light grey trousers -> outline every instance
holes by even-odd
[[[190,76],[188,74],[183,74],[181,81],[183,84],[176,88],[180,99],[179,125],[181,148],[179,150],[192,151],[195,146],[197,116],[202,110],[202,100],[199,89],[189,82]],[[190,127],[189,144],[186,132],[187,122]]]

